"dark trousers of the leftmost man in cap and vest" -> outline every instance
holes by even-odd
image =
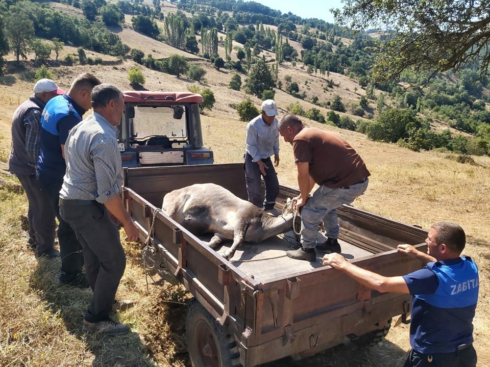
[[[55,244],[56,222],[52,212],[49,196],[41,191],[35,175],[17,176],[26,191],[29,201],[29,243],[37,245],[39,254],[53,249]],[[48,215],[46,215],[46,212]]]

